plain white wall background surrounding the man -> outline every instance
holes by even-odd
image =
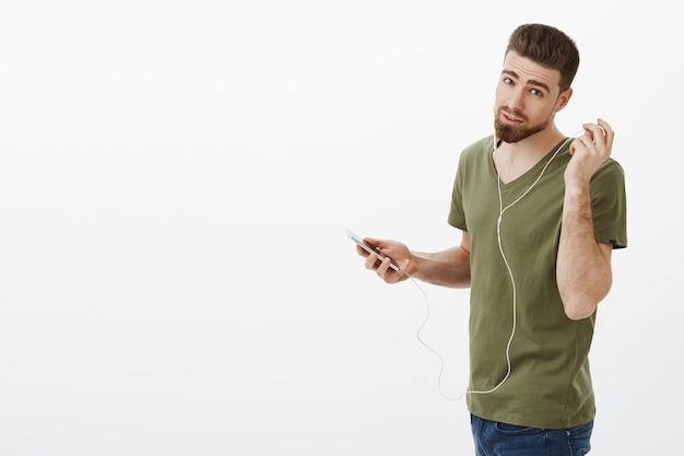
[[[4,1],[0,454],[463,455],[418,290],[344,236],[431,250],[488,135],[509,33],[582,62],[557,121],[626,171],[592,363],[593,454],[676,454],[684,19],[676,3]],[[467,379],[467,291],[423,338]]]

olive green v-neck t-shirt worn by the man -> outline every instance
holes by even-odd
[[[571,141],[551,162],[563,142],[519,178],[500,183],[502,202],[493,141],[483,138],[461,154],[448,218],[471,242],[471,391],[488,391],[506,376],[514,320],[516,328],[509,376],[493,393],[469,394],[468,406],[471,413],[492,421],[574,428],[595,414],[588,359],[595,313],[570,320],[555,278]],[[497,219],[500,208],[516,200],[502,217],[502,255]],[[597,241],[626,247],[624,173],[616,161],[609,159],[592,177],[591,204]]]

